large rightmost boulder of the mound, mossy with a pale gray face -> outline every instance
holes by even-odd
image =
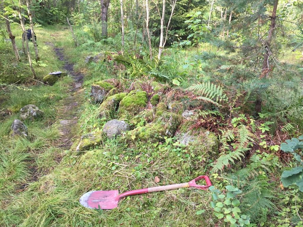
[[[217,157],[218,137],[204,128],[189,130],[193,123],[194,121],[186,121],[181,125],[180,130],[175,135],[179,143],[187,146],[187,150],[196,156],[202,156],[205,161]]]

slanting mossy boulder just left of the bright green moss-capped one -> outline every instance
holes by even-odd
[[[112,96],[107,97],[100,107],[98,108],[98,117],[99,118],[109,118],[113,113],[118,109],[119,102],[127,95],[127,93],[122,92],[118,94],[114,94]]]

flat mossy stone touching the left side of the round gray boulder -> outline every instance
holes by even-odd
[[[100,130],[84,134],[76,147],[76,151],[84,151],[95,147],[102,142],[102,139],[104,139],[104,136]]]

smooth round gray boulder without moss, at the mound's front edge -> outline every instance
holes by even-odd
[[[103,132],[108,138],[116,137],[129,130],[129,125],[123,120],[110,120],[105,123]]]

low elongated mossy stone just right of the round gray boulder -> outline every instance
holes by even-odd
[[[128,136],[132,139],[138,138],[146,141],[161,141],[164,137],[173,137],[180,123],[180,115],[164,112],[154,122],[129,131]]]

